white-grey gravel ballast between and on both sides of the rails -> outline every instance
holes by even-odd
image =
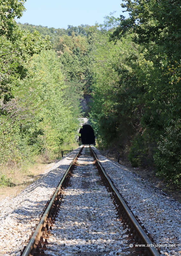
[[[18,196],[0,202],[0,255],[20,255],[45,204],[79,149],[56,163]],[[95,147],[93,150],[134,215],[154,241],[163,245],[161,255],[181,255],[181,205],[139,175],[102,156]],[[63,203],[51,231],[53,236],[48,238],[45,251],[48,255],[123,256],[130,253],[125,250],[129,248],[127,234],[116,215],[111,193],[102,185],[93,163],[86,146],[78,158],[70,186],[64,190]]]

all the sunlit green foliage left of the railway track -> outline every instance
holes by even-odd
[[[34,156],[48,160],[75,141],[82,87],[73,94],[48,35],[21,30],[25,1],[0,4],[0,164],[24,168]],[[77,86],[77,87],[78,87]],[[70,95],[69,95],[70,94]],[[78,96],[80,94],[80,96]],[[8,180],[0,175],[0,184]]]

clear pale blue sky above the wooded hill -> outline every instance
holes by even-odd
[[[122,13],[121,0],[26,0],[26,11],[17,21],[28,22],[54,28],[67,28],[68,25],[94,25],[104,22],[104,16],[117,11],[114,17]]]

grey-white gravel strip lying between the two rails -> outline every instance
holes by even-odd
[[[83,149],[83,153],[88,151]],[[105,186],[100,185],[92,156],[81,155],[71,187],[65,189],[63,203],[51,236],[48,250],[51,255],[125,255],[129,248],[126,230],[116,217],[115,206]],[[129,253],[129,252],[126,252]]]

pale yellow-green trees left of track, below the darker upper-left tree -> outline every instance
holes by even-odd
[[[57,153],[75,141],[78,128],[56,53],[43,50],[24,66],[27,76],[19,79],[13,99],[1,101],[0,143],[6,145],[2,164],[18,166],[34,155]]]

